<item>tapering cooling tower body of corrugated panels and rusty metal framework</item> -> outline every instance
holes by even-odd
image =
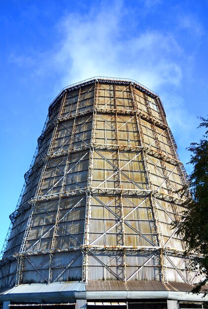
[[[96,78],[63,90],[43,131],[3,249],[0,288],[21,283],[193,283],[171,223],[185,172],[157,94]]]

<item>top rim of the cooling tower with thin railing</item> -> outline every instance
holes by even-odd
[[[68,85],[66,87],[64,87],[60,93],[56,96],[56,98],[52,101],[52,103],[50,104],[49,108],[52,107],[56,101],[60,98],[60,96],[63,94],[63,92],[65,92],[66,90],[74,90],[77,89],[81,86],[85,86],[88,84],[92,84],[95,81],[99,81],[99,82],[106,82],[106,83],[110,83],[110,82],[115,82],[115,83],[119,83],[119,84],[135,84],[135,86],[137,88],[139,88],[140,91],[145,92],[147,95],[150,95],[154,98],[159,98],[159,95],[154,92],[153,90],[147,88],[146,86],[142,85],[141,83],[139,83],[138,81],[134,80],[134,79],[130,79],[130,78],[120,78],[120,77],[103,77],[103,76],[96,76],[96,77],[91,77],[76,83],[73,83],[71,85]]]

